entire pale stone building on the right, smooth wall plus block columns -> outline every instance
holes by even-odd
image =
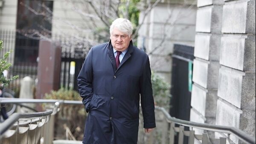
[[[180,6],[191,15],[165,23],[169,9],[175,14]],[[150,58],[152,69],[170,82],[173,44],[195,46],[190,121],[232,126],[255,136],[255,0],[197,0],[197,8],[188,7],[175,0],[159,3],[146,16],[138,47],[150,52],[166,37]],[[172,35],[184,25],[190,29]]]

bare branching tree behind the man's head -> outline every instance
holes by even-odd
[[[111,22],[115,20],[118,17],[129,17],[129,7],[131,5],[134,5],[133,0],[67,0],[68,2],[72,3],[72,10],[73,12],[76,12],[80,15],[81,23],[84,24],[84,27],[78,26],[77,24],[73,23],[72,20],[63,19],[60,17],[54,17],[53,12],[43,4],[38,4],[40,7],[42,7],[41,12],[37,12],[35,9],[31,8],[30,6],[20,3],[22,6],[29,9],[29,11],[33,12],[34,14],[38,16],[43,16],[44,20],[51,23],[52,26],[55,26],[58,28],[58,25],[56,23],[52,23],[52,20],[58,20],[59,22],[69,26],[73,29],[74,33],[89,33],[93,34],[93,37],[84,37],[83,35],[70,35],[68,33],[65,33],[63,31],[60,31],[59,35],[64,35],[66,37],[73,37],[72,41],[67,43],[61,42],[61,40],[54,39],[52,35],[52,32],[44,28],[43,26],[39,26],[41,30],[35,30],[35,29],[29,29],[28,30],[22,30],[17,29],[18,32],[23,33],[27,37],[35,38],[35,39],[47,39],[47,40],[53,40],[55,42],[60,43],[62,46],[69,47],[70,45],[75,45],[77,47],[81,47],[80,45],[83,44],[83,46],[91,47],[93,45],[96,45],[98,43],[101,43],[103,41],[108,40],[109,33],[108,28],[111,25]],[[154,9],[157,4],[161,3],[163,0],[155,0],[154,2],[151,2],[151,0],[141,0],[140,3],[137,3],[138,5],[143,5],[144,15],[141,18],[142,22],[138,25],[136,25],[134,34],[133,34],[133,40],[137,41],[137,36],[140,28],[143,26],[145,18],[150,14],[151,10]],[[168,11],[168,18],[166,19],[166,22],[164,23],[164,29],[163,29],[163,35],[161,42],[159,45],[155,46],[153,49],[151,49],[150,52],[147,52],[148,55],[151,55],[153,52],[155,52],[157,49],[159,49],[166,41],[166,35],[170,32],[170,30],[175,25],[176,21],[180,18],[186,17],[188,14],[182,14],[180,12],[180,16],[177,17],[175,20],[172,20],[171,23],[169,23],[169,20],[173,18],[173,12],[170,8],[170,2],[167,0],[167,5],[169,7]],[[192,6],[194,6],[195,3],[193,3],[191,6],[189,6],[188,9],[191,9]],[[185,6],[185,4],[183,4]],[[86,26],[85,26],[86,25]],[[61,28],[60,28],[61,29]],[[181,29],[180,31],[185,30]],[[177,32],[179,33],[179,32]],[[176,34],[172,34],[172,36],[175,36]]]

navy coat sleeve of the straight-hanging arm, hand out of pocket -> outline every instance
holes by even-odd
[[[154,98],[152,92],[151,70],[148,57],[143,68],[143,73],[140,77],[140,96],[144,128],[154,128],[156,127],[154,115]]]

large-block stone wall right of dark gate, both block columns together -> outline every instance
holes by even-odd
[[[197,6],[190,119],[255,136],[255,0]]]

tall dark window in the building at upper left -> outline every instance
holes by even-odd
[[[37,66],[39,39],[51,36],[52,6],[49,0],[18,0],[15,65]]]

